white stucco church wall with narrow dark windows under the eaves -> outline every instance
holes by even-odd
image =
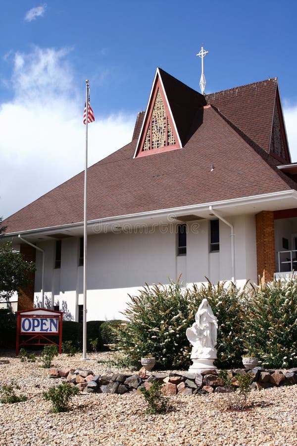
[[[254,216],[228,219],[235,228],[236,279],[256,282]],[[176,224],[167,230],[95,234],[88,237],[88,320],[122,319],[128,294],[144,283],[168,283],[180,274],[184,284],[231,279],[230,228],[220,222],[220,251],[209,252],[209,221],[189,222],[187,255],[177,256]],[[45,302],[59,305],[65,319],[78,319],[83,304],[83,267],[78,266],[79,238],[62,239],[61,268],[54,269],[55,241],[39,243],[46,251]],[[40,301],[41,255],[37,253],[35,302]]]

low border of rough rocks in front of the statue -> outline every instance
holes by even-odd
[[[228,371],[232,385],[236,390],[239,387],[236,375],[253,375],[251,388],[255,390],[268,389],[271,387],[291,386],[297,384],[297,368],[288,371],[265,370],[255,367],[248,371],[246,369],[233,369]],[[165,395],[199,395],[207,393],[225,393],[222,378],[214,370],[202,373],[156,373],[147,372],[142,368],[137,373],[114,373],[106,370],[104,375],[96,375],[91,370],[71,368],[51,368],[50,378],[64,378],[67,383],[77,386],[85,393],[139,393],[141,387],[149,389],[153,381],[163,383],[162,392]]]

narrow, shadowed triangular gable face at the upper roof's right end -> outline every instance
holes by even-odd
[[[282,163],[291,163],[278,88],[275,95],[269,155],[272,155]]]

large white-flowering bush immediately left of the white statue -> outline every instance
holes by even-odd
[[[139,296],[130,296],[119,325],[116,348],[129,356],[135,367],[145,356],[156,358],[156,368],[189,367],[189,341],[186,329],[192,325],[197,304],[181,283],[146,285]]]

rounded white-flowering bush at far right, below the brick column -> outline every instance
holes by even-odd
[[[245,305],[248,356],[257,356],[266,367],[297,367],[297,275],[264,283]]]

